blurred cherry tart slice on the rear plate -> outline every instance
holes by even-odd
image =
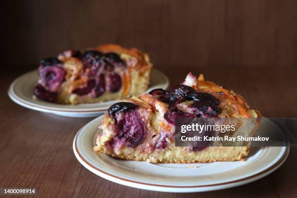
[[[118,45],[67,50],[40,61],[39,99],[61,104],[127,99],[148,88],[152,64],[148,54]]]

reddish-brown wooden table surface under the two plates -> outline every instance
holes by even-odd
[[[171,84],[182,82],[186,71],[203,72],[243,95],[265,116],[297,117],[297,69],[209,69],[184,71],[159,66]],[[72,141],[93,118],[68,118],[26,109],[8,98],[10,83],[21,72],[0,79],[0,187],[35,187],[37,197],[297,197],[297,148],[286,162],[261,180],[226,190],[204,193],[162,193],[107,181],[84,168],[75,158]]]

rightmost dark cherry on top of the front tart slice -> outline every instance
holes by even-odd
[[[190,108],[193,108],[194,115],[199,117],[216,117],[221,113],[220,108],[213,101],[194,101]]]

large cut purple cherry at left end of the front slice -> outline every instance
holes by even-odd
[[[129,109],[126,112],[118,112],[116,117],[117,137],[124,140],[128,147],[139,145],[145,137],[146,127],[138,112]]]

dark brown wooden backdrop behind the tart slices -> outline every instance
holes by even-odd
[[[146,51],[162,70],[297,65],[296,0],[10,0],[1,9],[8,69],[105,43]]]

